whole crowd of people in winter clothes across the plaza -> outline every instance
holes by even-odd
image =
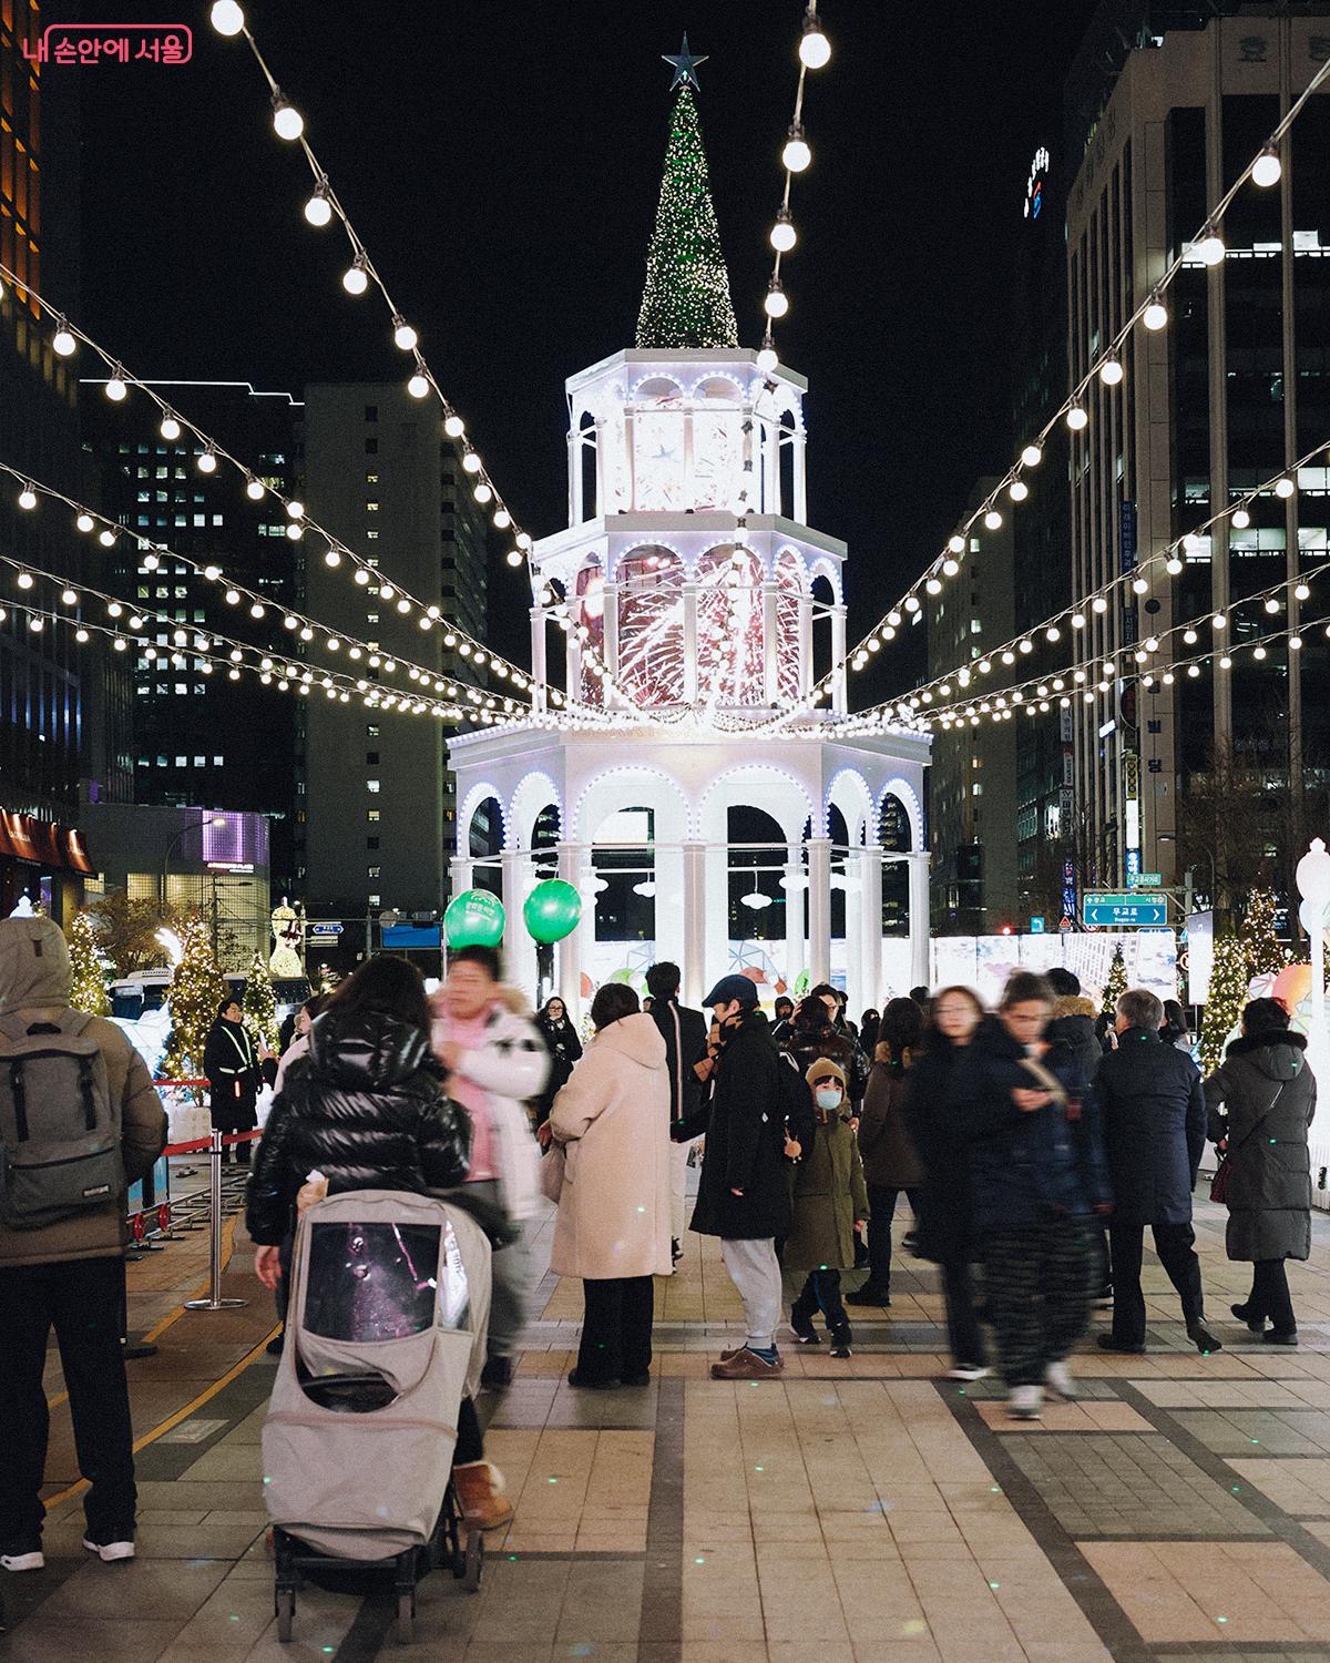
[[[884,1312],[896,1254],[913,1252],[939,1271],[949,1377],[996,1369],[1011,1414],[1036,1419],[1046,1392],[1076,1395],[1067,1355],[1096,1297],[1112,1302],[1097,1344],[1145,1349],[1147,1226],[1189,1337],[1204,1354],[1220,1349],[1192,1231],[1209,1139],[1222,1157],[1214,1194],[1229,1212],[1229,1257],[1252,1264],[1250,1292],[1232,1314],[1250,1334],[1297,1345],[1285,1267],[1310,1254],[1315,1078],[1277,1001],[1245,1008],[1240,1038],[1202,1081],[1177,1006],[1135,988],[1102,1024],[1066,971],[1012,975],[994,1011],[969,988],[914,988],[860,1024],[826,984],[798,1003],[778,999],[768,1019],[743,975],[708,991],[708,1021],[680,1003],[680,981],[678,966],[662,963],[645,1001],[623,983],[602,986],[584,1039],[557,998],[532,1018],[492,948],[451,953],[429,996],[411,965],[377,956],[304,1006],[279,1059],[254,1046],[228,1001],[206,1053],[214,1123],[251,1128],[259,1084],[276,1084],[248,1179],[261,1281],[281,1302],[301,1212],[328,1194],[446,1197],[490,1241],[480,1387],[502,1392],[532,1315],[544,1196],[557,1204],[550,1267],[584,1284],[569,1382],[605,1390],[650,1379],[655,1279],[673,1274],[685,1219],[720,1241],[743,1305],[743,1344],[712,1365],[720,1380],[781,1375],[786,1285],[795,1342],[821,1345],[825,1329],[831,1354],[848,1357],[851,1310]],[[85,1547],[130,1558],[125,1187],[160,1156],[166,1118],[125,1034],[70,1009],[68,950],[47,918],[0,921],[0,1051],[12,1058],[0,1071],[7,1146],[27,1139],[30,1119],[48,1141],[78,1141],[83,1128],[66,1124],[76,1114],[86,1119],[83,1171],[116,1164],[113,1182],[85,1186],[63,1211],[45,1191],[18,1189],[8,1167],[0,1184],[10,1345],[0,1415],[12,1438],[0,1463],[0,1565],[43,1563],[52,1329],[90,1482]],[[53,1073],[32,1073],[25,1086],[20,1053]],[[68,1091],[58,1084],[66,1076]],[[111,1133],[93,1136],[103,1121]],[[893,1252],[903,1196],[911,1219]],[[856,1271],[863,1281],[843,1287]],[[469,1397],[454,1477],[472,1523],[512,1517]]]

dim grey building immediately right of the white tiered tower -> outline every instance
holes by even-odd
[[[981,479],[969,509],[996,486]],[[1016,634],[1012,559],[1009,516],[998,530],[971,530],[959,574],[928,602],[929,680],[968,669],[979,683],[986,654]],[[928,822],[938,935],[996,935],[1016,925],[1016,722],[966,723],[936,737]]]

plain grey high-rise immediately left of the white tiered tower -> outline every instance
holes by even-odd
[[[311,514],[382,572],[381,585],[356,585],[344,567],[314,562],[309,612],[384,659],[432,675],[467,670],[446,625],[484,639],[489,534],[437,407],[397,382],[306,387],[306,496]],[[394,585],[437,605],[441,625],[402,617]],[[306,720],[311,918],[441,910],[457,813],[444,725],[323,698],[309,700]]]

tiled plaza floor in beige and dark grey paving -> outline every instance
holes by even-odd
[[[1229,1317],[1245,1269],[1224,1259],[1219,1209],[1197,1212],[1224,1350],[1195,1354],[1147,1254],[1149,1354],[1107,1357],[1091,1334],[1082,1400],[1027,1425],[994,1384],[941,1379],[938,1277],[906,1256],[853,1359],[785,1344],[785,1379],[760,1385],[707,1377],[741,1337],[715,1242],[688,1237],[658,1282],[638,1390],[567,1385],[580,1285],[547,1276],[514,1387],[482,1399],[514,1523],[477,1595],[421,1585],[411,1646],[386,1600],[318,1588],[278,1641],[259,1467],[273,1305],[233,1222],[226,1292],[248,1304],[183,1312],[204,1269],[186,1237],[130,1267],[131,1329],[158,1345],[130,1364],[138,1558],[80,1548],[53,1352],[47,1570],[3,1580],[0,1660],[1330,1660],[1330,1219],[1313,1216],[1312,1262],[1290,1276],[1287,1350]],[[549,1236],[547,1219],[545,1256]]]

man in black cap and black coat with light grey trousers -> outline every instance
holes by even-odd
[[[790,1064],[771,1043],[756,984],[746,976],[722,976],[705,1003],[722,1033],[708,1081],[710,1111],[700,1109],[692,1121],[678,1123],[673,1136],[678,1141],[707,1134],[693,1229],[698,1236],[720,1236],[725,1269],[748,1324],[746,1344],[722,1354],[712,1365],[712,1379],[773,1380],[785,1372],[776,1350],[781,1315],[776,1237],[790,1234],[778,1071]]]

